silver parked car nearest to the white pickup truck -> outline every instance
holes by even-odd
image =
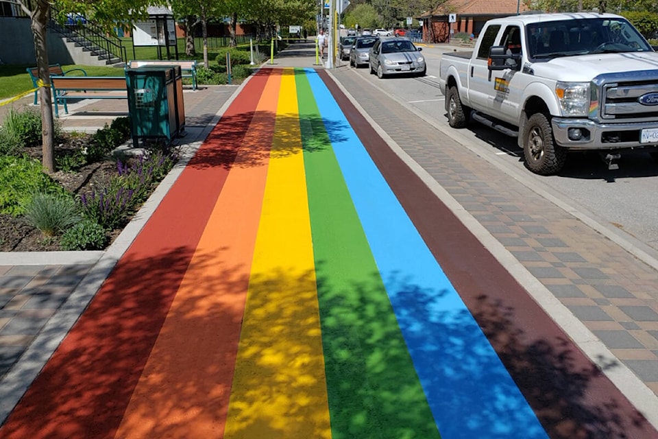
[[[405,37],[378,40],[369,50],[370,73],[377,73],[380,79],[404,73],[423,76],[427,66],[421,50]]]

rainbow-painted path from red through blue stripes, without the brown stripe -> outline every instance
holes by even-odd
[[[262,69],[0,429],[56,437],[546,433],[321,75]]]

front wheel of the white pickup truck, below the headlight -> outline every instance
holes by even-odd
[[[541,176],[555,174],[564,166],[567,152],[555,144],[550,121],[541,112],[536,112],[526,122],[523,155],[526,167]]]

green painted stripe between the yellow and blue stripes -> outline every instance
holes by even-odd
[[[296,78],[332,437],[438,438],[310,84]]]

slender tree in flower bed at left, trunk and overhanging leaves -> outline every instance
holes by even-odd
[[[55,171],[54,158],[54,119],[53,98],[51,94],[50,75],[48,73],[48,47],[46,27],[53,13],[53,18],[60,23],[66,21],[67,12],[77,12],[88,20],[95,21],[106,32],[114,32],[114,27],[132,28],[132,24],[144,19],[147,6],[151,0],[13,0],[32,20],[30,27],[34,34],[34,52],[38,76],[41,81],[39,104],[42,124],[42,165],[48,172]],[[55,10],[51,8],[54,5]]]

